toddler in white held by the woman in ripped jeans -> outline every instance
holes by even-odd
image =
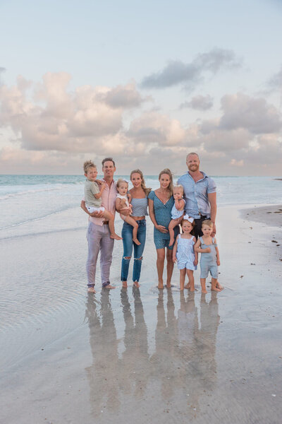
[[[133,227],[133,242],[139,246],[141,243],[137,240],[137,222],[131,216],[125,216],[122,213],[123,209],[130,209],[130,213],[132,213],[132,206],[130,205],[131,196],[130,193],[128,193],[128,182],[123,178],[118,179],[116,189],[118,190],[118,194],[116,195],[116,209],[121,211],[121,219]]]

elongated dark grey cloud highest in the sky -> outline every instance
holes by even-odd
[[[221,69],[238,68],[240,61],[232,50],[214,48],[210,52],[198,54],[185,64],[180,60],[168,61],[168,64],[156,73],[145,76],[141,82],[142,88],[167,88],[184,84],[194,88],[203,81],[205,73],[214,75]]]

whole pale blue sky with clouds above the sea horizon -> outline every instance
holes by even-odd
[[[282,0],[0,0],[0,174],[282,175]]]

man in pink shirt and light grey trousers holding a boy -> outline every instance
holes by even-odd
[[[102,160],[102,171],[104,178],[102,181],[106,183],[106,187],[102,192],[102,206],[107,211],[116,213],[116,183],[114,182],[114,172],[116,172],[116,165],[113,158],[105,158]],[[88,291],[96,293],[94,289],[95,275],[98,254],[100,251],[100,268],[103,288],[115,288],[110,284],[110,268],[111,259],[114,249],[114,240],[110,237],[109,223],[108,221],[101,218],[102,212],[89,213],[85,206],[85,201],[82,200],[80,206],[83,211],[88,213],[89,225],[87,230],[87,242],[88,242],[88,257],[86,263],[87,279],[88,279]]]

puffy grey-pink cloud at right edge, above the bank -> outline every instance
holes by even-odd
[[[221,99],[222,129],[245,128],[253,134],[276,132],[281,129],[281,117],[264,98],[251,98],[243,93],[224,95]]]

